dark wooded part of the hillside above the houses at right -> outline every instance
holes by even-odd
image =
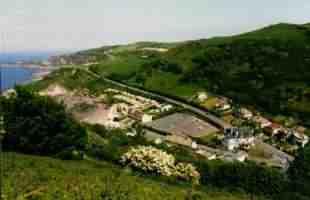
[[[310,116],[310,37],[304,43],[277,39],[237,39],[196,50],[181,83],[196,83],[272,113]]]

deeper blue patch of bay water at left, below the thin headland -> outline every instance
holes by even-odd
[[[32,79],[34,69],[23,66],[0,67],[0,89],[6,90]]]

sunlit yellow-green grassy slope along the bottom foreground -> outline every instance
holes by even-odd
[[[129,169],[98,161],[61,161],[10,153],[4,199],[199,199],[245,200],[241,193],[208,188],[190,192],[188,185],[172,185],[139,176]],[[14,161],[12,161],[14,159]],[[192,193],[190,195],[190,193]]]

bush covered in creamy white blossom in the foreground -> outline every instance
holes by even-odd
[[[173,155],[151,146],[131,148],[122,156],[121,163],[145,172],[175,176],[195,183],[198,183],[200,178],[199,172],[193,165],[176,163]]]

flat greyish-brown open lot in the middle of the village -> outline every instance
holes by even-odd
[[[174,113],[147,123],[147,127],[172,135],[203,137],[218,129],[206,121],[186,113]]]

